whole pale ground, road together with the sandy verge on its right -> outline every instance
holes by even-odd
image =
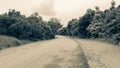
[[[120,47],[58,36],[0,51],[0,68],[120,68]]]

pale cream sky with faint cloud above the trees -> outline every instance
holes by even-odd
[[[99,6],[101,10],[110,7],[112,0],[0,0],[0,13],[9,9],[21,11],[29,16],[38,12],[44,20],[51,17],[61,19],[61,23],[66,25],[73,18],[84,15],[86,10]],[[115,0],[116,6],[120,5],[120,0]]]

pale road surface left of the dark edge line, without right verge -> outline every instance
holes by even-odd
[[[89,68],[79,44],[68,37],[0,51],[0,68]]]

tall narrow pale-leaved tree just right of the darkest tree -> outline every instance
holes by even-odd
[[[95,15],[93,16],[93,20],[91,21],[91,24],[88,26],[87,30],[91,33],[92,38],[97,38],[102,34],[102,26],[103,26],[103,20],[104,15],[103,12],[98,9],[99,7],[95,7]]]

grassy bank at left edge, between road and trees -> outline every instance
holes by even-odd
[[[20,40],[13,37],[0,35],[0,50],[20,45],[22,45]]]

